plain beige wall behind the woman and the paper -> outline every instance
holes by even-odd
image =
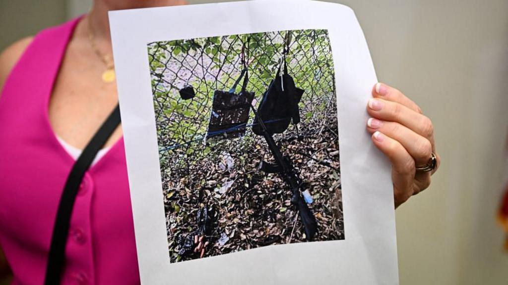
[[[0,47],[84,13],[90,2],[0,0]],[[329,2],[355,10],[379,80],[435,124],[441,168],[428,190],[397,209],[401,284],[508,284],[495,221],[508,172],[508,1]]]

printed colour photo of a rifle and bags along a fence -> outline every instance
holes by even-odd
[[[172,263],[345,238],[327,30],[147,49]]]

